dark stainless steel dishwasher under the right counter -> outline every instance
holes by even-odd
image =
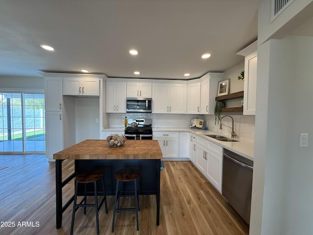
[[[253,161],[224,149],[222,194],[250,224]]]

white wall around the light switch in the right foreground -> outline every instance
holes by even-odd
[[[313,234],[313,146],[298,147],[313,134],[312,47],[292,36],[258,48],[250,235]]]

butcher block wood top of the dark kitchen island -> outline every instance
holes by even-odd
[[[85,140],[53,154],[53,159],[162,159],[162,151],[156,140],[127,140],[119,147],[106,140]]]

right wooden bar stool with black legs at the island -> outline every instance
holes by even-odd
[[[139,208],[139,190],[137,189],[137,179],[139,178],[140,173],[137,169],[134,168],[126,168],[120,169],[115,172],[115,179],[116,179],[116,190],[115,190],[115,200],[114,200],[114,208],[113,208],[113,221],[112,221],[112,233],[114,232],[114,220],[115,220],[115,212],[120,211],[136,211],[136,221],[137,221],[137,231],[139,230],[139,223],[138,223],[138,211]],[[121,194],[121,190],[119,189],[120,182],[129,182],[134,181],[134,194]],[[135,207],[134,208],[119,208],[119,200],[120,197],[125,196],[134,196],[135,197]],[[117,204],[117,207],[116,207]]]

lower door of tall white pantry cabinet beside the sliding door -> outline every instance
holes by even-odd
[[[62,112],[45,112],[45,157],[63,149]]]

